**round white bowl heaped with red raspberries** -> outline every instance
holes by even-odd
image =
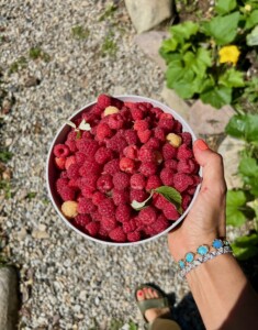
[[[156,100],[100,95],[51,145],[51,200],[89,240],[132,245],[156,239],[183,220],[199,193],[194,140],[188,123]]]

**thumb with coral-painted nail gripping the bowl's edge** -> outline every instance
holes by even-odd
[[[210,189],[220,187],[226,190],[222,156],[210,150],[201,139],[194,142],[193,154],[203,170],[202,187],[209,187]]]

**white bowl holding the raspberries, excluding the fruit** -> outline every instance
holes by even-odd
[[[122,101],[125,102],[149,102],[152,103],[154,107],[160,108],[162,109],[164,112],[168,112],[171,113],[177,120],[179,120],[182,124],[182,131],[183,132],[189,132],[192,135],[192,141],[197,140],[197,136],[194,135],[192,129],[189,127],[189,124],[186,122],[186,120],[179,116],[175,110],[170,109],[169,107],[162,105],[159,101],[149,99],[149,98],[145,98],[145,97],[141,97],[141,96],[133,96],[133,95],[125,95],[125,96],[114,96],[117,99],[121,99]],[[89,105],[87,105],[86,107],[81,108],[80,110],[78,110],[77,112],[75,112],[74,114],[71,114],[71,117],[69,118],[69,120],[74,120],[80,117],[80,113],[82,111],[87,111],[90,110],[91,107],[96,105],[94,102],[91,102]],[[137,244],[142,244],[142,243],[146,243],[149,241],[153,241],[157,238],[159,238],[160,235],[169,232],[171,229],[173,229],[175,227],[177,227],[182,220],[183,218],[187,216],[187,213],[189,212],[189,210],[191,209],[198,194],[200,190],[200,185],[197,187],[197,190],[193,195],[193,198],[191,200],[191,204],[189,205],[189,207],[187,208],[187,210],[182,213],[182,216],[177,220],[171,222],[171,226],[169,228],[167,228],[165,231],[158,233],[157,235],[154,235],[152,238],[138,241],[138,242],[126,242],[126,243],[116,243],[116,242],[106,242],[106,241],[101,241],[99,239],[94,239],[83,232],[81,232],[79,229],[77,229],[75,226],[72,226],[61,213],[60,211],[60,198],[57,195],[56,188],[55,188],[55,182],[56,182],[56,177],[58,175],[58,170],[55,166],[55,156],[53,154],[53,148],[56,144],[58,143],[64,143],[66,141],[66,136],[68,134],[68,132],[70,131],[70,127],[67,124],[64,124],[59,131],[57,132],[56,136],[53,140],[53,143],[51,145],[49,152],[48,152],[48,156],[47,156],[47,162],[46,162],[46,183],[47,183],[47,190],[49,194],[49,198],[57,211],[57,213],[59,215],[59,217],[61,218],[61,220],[69,227],[71,228],[74,231],[76,231],[78,234],[82,235],[83,238],[94,241],[97,243],[101,243],[101,244],[108,244],[108,245],[115,245],[115,246],[132,246],[132,245],[137,245]]]

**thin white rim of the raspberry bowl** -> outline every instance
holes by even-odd
[[[194,142],[197,140],[197,136],[195,136],[193,130],[191,129],[191,127],[188,124],[188,122],[179,113],[177,113],[176,110],[171,109],[167,105],[164,105],[162,102],[154,100],[152,98],[142,97],[142,96],[137,96],[137,95],[119,95],[119,96],[112,96],[112,97],[121,99],[122,101],[125,101],[126,99],[132,99],[133,98],[135,102],[137,102],[137,101],[138,102],[149,102],[149,103],[154,102],[155,107],[161,108],[162,111],[165,111],[164,109],[166,109],[167,111],[165,111],[165,112],[168,112],[168,113],[172,112],[172,116],[182,123],[183,128],[187,128],[187,131],[189,133],[191,133],[191,135],[192,135],[192,142]],[[94,101],[92,101],[90,103],[87,103],[86,106],[81,107],[79,110],[75,111],[68,118],[68,120],[72,120],[81,111],[87,110],[88,108],[92,107],[96,103],[97,103],[97,100],[94,100]],[[197,197],[199,195],[199,191],[200,191],[200,188],[201,188],[201,184],[199,184],[197,186],[197,189],[194,191],[193,198],[192,198],[190,205],[188,206],[187,210],[181,215],[181,217],[178,220],[173,221],[172,224],[169,226],[166,230],[161,231],[160,233],[158,233],[158,234],[156,234],[154,237],[147,238],[145,240],[141,240],[141,241],[136,241],[136,242],[124,242],[124,243],[102,241],[100,239],[96,239],[96,238],[92,238],[92,237],[88,235],[87,233],[80,231],[74,224],[71,224],[69,222],[69,220],[66,219],[66,217],[61,213],[61,211],[57,207],[56,202],[54,201],[52,189],[51,189],[51,185],[49,185],[49,164],[51,164],[52,152],[53,152],[53,148],[54,148],[54,146],[56,144],[56,140],[58,139],[58,136],[61,133],[61,131],[66,128],[66,125],[67,124],[64,123],[60,127],[60,129],[57,131],[57,133],[55,134],[54,139],[52,140],[52,143],[51,143],[51,146],[49,146],[49,150],[48,150],[48,153],[47,153],[46,168],[45,168],[46,169],[45,175],[46,175],[46,186],[47,186],[48,197],[49,197],[49,199],[51,199],[51,201],[52,201],[55,210],[57,211],[57,215],[61,218],[61,220],[66,223],[66,226],[68,226],[70,229],[72,229],[74,231],[76,231],[79,235],[83,237],[85,239],[88,239],[88,240],[90,240],[92,242],[96,242],[96,243],[100,243],[100,244],[103,244],[103,245],[111,245],[111,246],[135,246],[135,245],[144,244],[144,243],[150,242],[153,240],[159,239],[161,235],[168,233],[173,228],[176,228],[180,222],[182,222],[182,220],[189,213],[190,209],[192,208],[192,206],[193,206],[193,204],[194,204],[194,201],[195,201],[195,199],[197,199]],[[200,167],[199,175],[202,177],[202,168],[201,167]]]

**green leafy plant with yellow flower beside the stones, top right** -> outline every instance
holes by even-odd
[[[159,50],[168,67],[167,86],[183,99],[201,98],[215,108],[236,103],[258,81],[248,75],[247,54],[258,45],[258,3],[217,0],[210,20],[186,21],[169,29]]]

